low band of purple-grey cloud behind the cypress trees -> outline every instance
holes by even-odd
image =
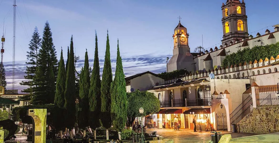
[[[132,76],[141,72],[151,71],[154,73],[161,73],[166,70],[165,57],[170,55],[138,55],[135,57],[122,57],[122,65],[125,76]],[[89,66],[93,67],[94,59],[89,59]],[[100,74],[103,72],[104,57],[99,59]],[[65,60],[66,62],[66,60]],[[78,60],[76,62],[76,70],[80,72],[81,67],[84,65],[84,60]],[[115,74],[116,58],[111,59],[112,74]],[[11,89],[12,86],[12,62],[4,62],[4,68],[6,70],[7,89]],[[15,88],[19,92],[27,88],[27,86],[21,86],[21,81],[24,79],[26,70],[25,61],[16,61],[15,65]]]

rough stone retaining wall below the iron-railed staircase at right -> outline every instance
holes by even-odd
[[[279,105],[261,105],[237,124],[239,131],[252,134],[279,132]]]

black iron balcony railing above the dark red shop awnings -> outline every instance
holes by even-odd
[[[187,103],[187,104],[185,104]],[[160,101],[160,107],[211,106],[211,98],[193,98]]]

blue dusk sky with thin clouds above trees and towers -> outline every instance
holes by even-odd
[[[53,43],[60,57],[61,47],[66,60],[67,46],[73,35],[75,54],[80,56],[76,69],[84,64],[88,50],[90,66],[93,66],[95,30],[98,36],[100,73],[105,55],[106,34],[109,30],[110,53],[113,74],[116,66],[117,38],[124,74],[131,76],[151,71],[166,71],[166,57],[172,56],[174,28],[181,16],[181,24],[189,33],[191,52],[198,46],[205,49],[219,47],[222,40],[222,3],[226,0],[166,1],[166,0],[17,0],[16,1],[16,50],[15,88],[22,90],[26,52],[35,26],[42,31],[49,21]],[[271,32],[278,24],[279,11],[276,0],[245,0],[248,16],[248,32]],[[0,33],[4,28],[7,89],[11,89],[13,53],[13,0],[0,0]],[[203,35],[203,41],[202,41]]]

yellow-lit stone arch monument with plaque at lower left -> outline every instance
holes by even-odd
[[[32,117],[32,142],[45,143],[47,109],[29,109],[28,116]]]

